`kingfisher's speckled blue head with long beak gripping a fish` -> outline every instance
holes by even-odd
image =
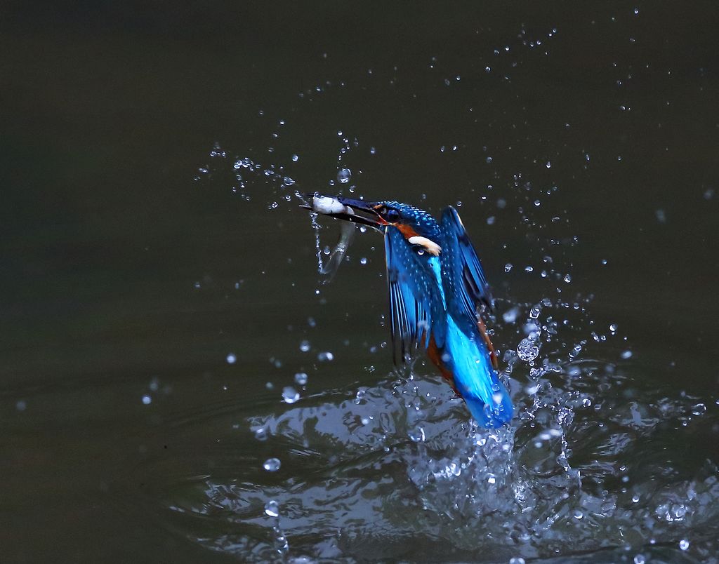
[[[354,221],[385,231],[396,228],[411,245],[423,247],[429,254],[441,253],[439,224],[430,213],[413,205],[395,201],[365,202],[344,196],[307,195],[311,205],[304,207],[346,221]]]

